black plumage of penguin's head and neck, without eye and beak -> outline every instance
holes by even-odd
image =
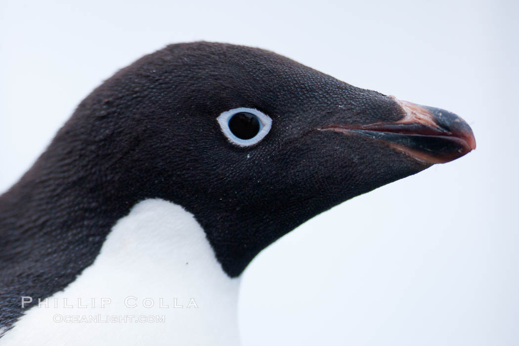
[[[257,145],[237,147],[221,132],[216,118],[236,107],[272,118]],[[239,275],[309,218],[429,167],[363,136],[317,130],[403,116],[389,96],[261,49],[200,42],[143,57],[81,102],[0,197],[0,326],[23,313],[21,296],[34,304],[74,281],[147,198],[193,213],[223,270]]]

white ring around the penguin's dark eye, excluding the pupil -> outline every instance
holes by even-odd
[[[229,128],[229,122],[230,119],[233,118],[238,113],[250,113],[254,115],[258,122],[260,123],[260,128],[256,135],[252,137],[251,139],[241,139],[237,137]],[[223,133],[227,137],[227,139],[236,145],[239,145],[240,147],[247,147],[254,145],[258,142],[260,142],[263,137],[267,135],[267,133],[270,131],[270,128],[272,126],[272,119],[270,119],[269,116],[266,114],[260,112],[257,109],[254,108],[245,108],[245,107],[239,107],[239,108],[233,108],[230,110],[227,110],[227,112],[223,112],[218,116],[217,118],[218,123],[220,124],[220,127],[222,128]]]

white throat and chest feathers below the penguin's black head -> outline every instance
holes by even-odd
[[[238,285],[192,214],[145,200],[93,264],[29,309],[0,345],[235,345]]]

